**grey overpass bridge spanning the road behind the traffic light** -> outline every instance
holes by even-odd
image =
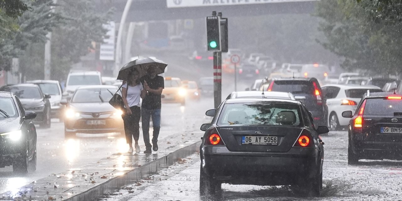
[[[224,17],[312,13],[317,0],[132,0],[126,22],[196,19],[222,12]],[[95,0],[98,12],[116,8],[120,22],[127,0]]]

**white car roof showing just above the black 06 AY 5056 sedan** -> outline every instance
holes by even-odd
[[[296,100],[290,92],[277,92],[277,91],[234,91],[226,97],[228,99],[235,98],[273,98],[273,99],[285,99]]]

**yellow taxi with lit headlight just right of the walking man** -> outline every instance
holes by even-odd
[[[180,78],[165,77],[164,84],[162,102],[185,105],[187,90],[182,86]]]

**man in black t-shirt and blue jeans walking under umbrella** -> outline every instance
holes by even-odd
[[[147,69],[146,76],[140,80],[147,91],[145,98],[142,100],[141,116],[142,116],[142,134],[144,135],[144,142],[146,150],[145,154],[151,154],[151,148],[156,152],[158,151],[158,135],[160,131],[160,108],[161,108],[161,94],[164,89],[164,80],[162,76],[156,75],[156,66],[150,65]],[[154,125],[154,132],[152,135],[152,145],[150,143],[150,118]]]

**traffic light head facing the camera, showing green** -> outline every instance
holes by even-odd
[[[221,50],[220,23],[218,16],[207,17],[207,49]]]

